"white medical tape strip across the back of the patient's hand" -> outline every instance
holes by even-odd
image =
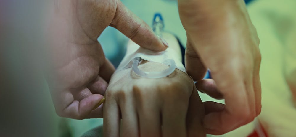
[[[134,42],[128,43],[126,55],[120,62],[116,71],[132,67],[132,60],[136,57],[141,57],[143,60],[162,64],[164,64],[163,62],[165,62],[165,60],[172,59],[176,63],[176,68],[186,73],[186,69],[181,61],[182,59],[178,57],[178,53],[174,49],[168,47],[165,51],[154,52],[148,49],[144,49]]]

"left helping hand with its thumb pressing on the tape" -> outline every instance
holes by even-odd
[[[102,118],[103,98],[113,65],[105,58],[97,38],[112,26],[144,48],[167,47],[149,26],[120,0],[54,1],[49,27],[52,62],[46,80],[58,115],[75,119]]]

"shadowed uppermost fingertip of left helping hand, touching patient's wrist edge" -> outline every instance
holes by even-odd
[[[115,68],[112,63],[105,58],[104,64],[100,67],[99,76],[101,76],[106,82],[109,83],[112,74],[114,73]]]

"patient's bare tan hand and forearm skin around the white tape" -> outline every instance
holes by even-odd
[[[176,56],[181,61],[176,38],[171,34],[163,37],[170,48],[178,51]],[[138,67],[144,71],[168,68],[145,60]],[[140,77],[132,68],[120,70],[112,75],[105,97],[105,137],[205,136],[202,101],[191,77],[178,69],[157,79]]]

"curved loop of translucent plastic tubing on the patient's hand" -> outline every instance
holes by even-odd
[[[142,76],[142,77],[146,77],[146,78],[161,78],[161,77],[166,77],[170,74],[172,74],[175,69],[176,69],[176,63],[174,60],[172,59],[167,59],[163,62],[163,64],[165,65],[169,65],[170,67],[166,70],[163,70],[163,71],[159,71],[159,72],[145,72],[145,71],[142,71],[138,68],[138,65],[140,64],[141,62],[141,58],[140,57],[136,57],[133,59],[133,65],[132,65],[132,68],[133,68],[133,71]]]

